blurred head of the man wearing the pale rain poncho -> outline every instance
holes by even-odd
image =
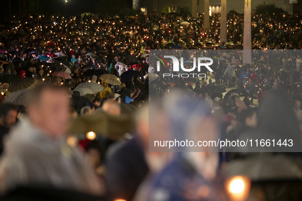
[[[52,138],[66,134],[69,119],[68,92],[64,87],[39,85],[27,99],[29,119],[34,127]]]

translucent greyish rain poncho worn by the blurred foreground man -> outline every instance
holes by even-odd
[[[79,149],[53,139],[24,119],[10,132],[0,161],[2,191],[39,185],[99,194],[94,170]]]

